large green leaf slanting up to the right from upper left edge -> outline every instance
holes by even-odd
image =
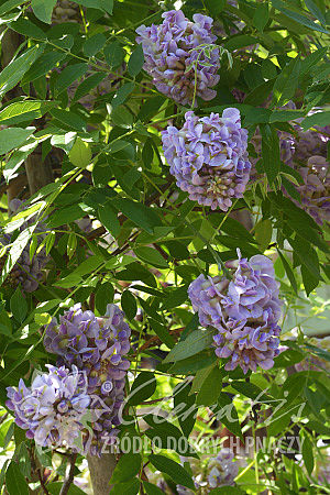
[[[0,97],[16,86],[43,50],[43,46],[34,46],[4,67],[0,74]]]

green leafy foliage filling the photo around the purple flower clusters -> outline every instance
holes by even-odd
[[[182,127],[189,108],[156,90],[135,30],[162,22],[175,2],[80,0],[64,13],[58,7],[54,0],[0,6],[1,237],[11,237],[0,246],[0,492],[6,485],[1,493],[9,495],[61,493],[66,452],[35,449],[6,408],[6,387],[55,362],[42,345],[53,317],[77,302],[105,316],[112,301],[132,329],[122,411],[128,421],[119,436],[143,448],[119,458],[111,494],[164,493],[153,477],[158,472],[172,493],[177,484],[194,491],[182,458],[202,465],[197,440],[212,440],[208,455],[215,455],[223,437],[243,450],[253,436],[266,447],[293,436],[301,448],[289,455],[250,452],[235,485],[212,493],[329,491],[318,475],[330,435],[330,354],[306,337],[329,333],[329,228],[308,215],[297,190],[307,164],[293,168],[280,147],[282,133],[298,138],[298,124],[305,132],[329,125],[326,2],[183,4],[189,19],[213,18],[215,44],[232,58],[221,61],[217,97],[197,99],[195,111],[205,117],[238,108],[256,162],[256,180],[228,212],[190,201],[164,160],[161,132]],[[37,163],[36,187],[29,163]],[[14,217],[12,191],[26,207]],[[227,361],[216,358],[215,329],[199,326],[187,295],[200,274],[215,276],[237,258],[238,248],[243,256],[274,262],[287,348],[274,367],[246,375],[227,371]],[[23,252],[31,261],[42,250],[43,278],[37,290],[25,293],[16,264]],[[318,364],[297,372],[307,359]],[[79,455],[74,473],[80,482],[81,462]],[[85,493],[81,486],[72,484],[68,494]]]

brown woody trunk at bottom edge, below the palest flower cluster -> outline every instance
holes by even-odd
[[[105,453],[101,458],[87,455],[94,495],[109,495],[109,481],[116,468],[116,455]]]

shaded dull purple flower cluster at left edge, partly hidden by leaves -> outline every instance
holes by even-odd
[[[13,199],[10,201],[9,209],[13,215],[16,215],[20,210],[23,210],[23,204],[19,199]],[[28,221],[23,222],[19,230],[22,232],[28,227],[32,226],[35,222],[35,217],[33,216]],[[42,232],[46,230],[46,227],[42,223],[38,223],[36,228],[34,229],[34,233],[37,235],[37,243],[41,244],[42,240],[44,239],[44,235]],[[14,232],[6,233],[2,232],[0,234],[0,243],[3,246],[7,246],[14,242]],[[40,282],[43,278],[43,270],[45,265],[47,264],[48,256],[46,256],[45,249],[43,248],[41,251],[36,249],[33,256],[30,256],[30,246],[31,241],[28,242],[26,246],[22,251],[20,257],[15,262],[9,277],[9,284],[13,287],[18,287],[21,285],[23,290],[26,293],[33,293],[37,289]],[[0,258],[0,266],[2,267],[3,263],[6,262],[6,255]]]

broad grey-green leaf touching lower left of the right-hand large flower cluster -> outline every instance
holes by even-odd
[[[213,331],[210,329],[195,330],[186,340],[178,342],[168,355],[165,358],[164,363],[170,363],[190,358],[197,354],[206,348],[211,346],[213,342]]]

